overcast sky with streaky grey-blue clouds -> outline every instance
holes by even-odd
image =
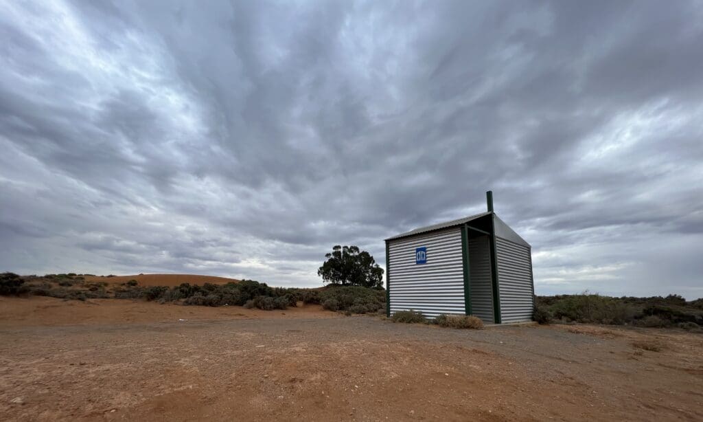
[[[703,4],[1,1],[0,271],[320,286],[485,210],[538,294],[703,297]]]

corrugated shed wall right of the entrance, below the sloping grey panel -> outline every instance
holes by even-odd
[[[501,322],[531,321],[534,297],[530,249],[496,238]]]

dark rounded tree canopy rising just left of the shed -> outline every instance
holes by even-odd
[[[363,287],[383,285],[383,269],[373,256],[366,250],[359,250],[358,246],[335,245],[325,257],[327,260],[317,274],[327,283]]]

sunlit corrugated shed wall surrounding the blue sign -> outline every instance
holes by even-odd
[[[415,248],[427,263],[415,264]],[[390,312],[414,309],[425,316],[464,314],[461,230],[456,227],[389,241]]]

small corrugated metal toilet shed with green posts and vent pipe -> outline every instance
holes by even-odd
[[[386,239],[387,314],[474,314],[497,324],[529,321],[531,247],[493,212],[420,227]]]

